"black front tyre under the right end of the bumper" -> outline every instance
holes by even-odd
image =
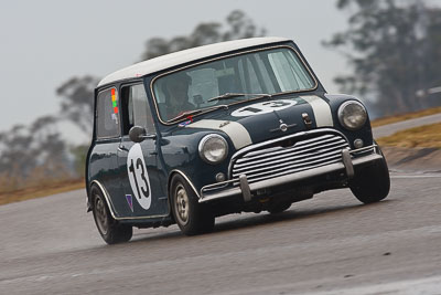
[[[363,203],[374,203],[385,199],[390,190],[389,169],[385,157],[383,156],[383,159],[375,165],[356,172],[349,187],[354,196]]]

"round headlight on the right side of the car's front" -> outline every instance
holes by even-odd
[[[340,124],[342,124],[346,129],[359,129],[366,123],[366,108],[358,102],[345,102],[338,108]]]

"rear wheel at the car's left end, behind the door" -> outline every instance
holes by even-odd
[[[130,225],[120,224],[116,221],[107,207],[107,202],[103,192],[96,186],[90,189],[94,207],[95,224],[103,236],[103,240],[108,244],[117,244],[130,241],[133,229]]]

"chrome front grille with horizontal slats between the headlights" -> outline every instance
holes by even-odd
[[[277,143],[250,150],[233,164],[232,177],[246,175],[252,183],[279,176],[295,173],[342,160],[342,149],[349,148],[337,134],[324,134],[308,139]]]

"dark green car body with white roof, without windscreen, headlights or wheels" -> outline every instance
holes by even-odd
[[[103,192],[115,222],[139,228],[172,224],[175,217],[171,181],[180,175],[196,201],[209,208],[214,217],[259,212],[277,203],[278,198],[290,204],[320,191],[349,187],[357,171],[384,160],[367,114],[356,129],[342,124],[342,105],[363,104],[353,96],[326,94],[292,41],[259,39],[234,44],[232,49],[224,45],[206,53],[200,51],[195,57],[181,57],[170,64],[164,62],[165,55],[158,63],[144,62],[119,76],[116,72],[98,85],[86,167],[89,210],[94,209],[90,189],[95,186]],[[219,98],[203,112],[187,112],[176,120],[161,117],[160,87],[155,88],[161,77],[269,50],[292,51],[295,61],[308,71],[310,82],[304,83],[311,87],[255,92],[240,99]],[[173,57],[169,56],[169,61]],[[149,65],[150,70],[136,72]],[[249,66],[254,66],[251,62]],[[219,87],[220,80],[233,72],[228,71],[216,73]],[[142,107],[136,105],[136,95],[146,99],[144,105],[138,103]],[[147,115],[139,110],[143,107]],[[135,143],[130,128],[137,125],[137,112],[142,113],[139,117],[146,122],[146,131]],[[202,140],[213,135],[227,143],[225,158],[216,164],[201,156]]]

